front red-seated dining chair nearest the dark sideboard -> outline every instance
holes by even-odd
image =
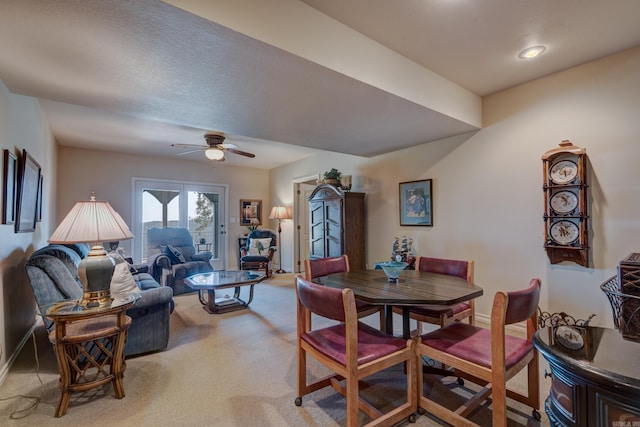
[[[506,398],[533,408],[540,420],[538,353],[531,339],[538,327],[540,279],[531,279],[520,291],[498,292],[491,309],[491,329],[463,322],[420,336],[416,347],[419,360],[430,357],[455,368],[456,374],[483,388],[457,410],[450,410],[424,396],[423,374],[418,370],[419,406],[453,425],[476,425],[468,417],[489,395],[492,398],[492,425],[507,425]],[[526,338],[506,335],[505,326],[526,322]],[[507,389],[507,381],[527,368],[527,394]]]

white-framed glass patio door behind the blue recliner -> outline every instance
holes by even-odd
[[[134,178],[133,256],[147,259],[149,228],[182,227],[197,251],[210,251],[215,270],[227,262],[226,186]]]

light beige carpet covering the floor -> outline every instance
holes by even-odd
[[[15,420],[10,415],[31,401],[25,398],[0,401],[0,425],[345,425],[345,401],[330,388],[305,396],[302,407],[294,405],[295,298],[291,274],[275,275],[257,285],[248,310],[212,315],[202,309],[197,295],[176,297],[169,347],[127,359],[126,397],[115,399],[111,385],[75,393],[62,418],[54,417],[60,396],[55,355],[44,329],[38,327],[36,342],[44,383],[41,402],[30,415]],[[377,316],[369,319],[368,323],[377,326]],[[397,320],[395,323],[399,325],[399,318]],[[316,364],[310,365],[314,375],[324,373]],[[41,386],[35,366],[29,340],[0,386],[0,398],[39,395]],[[402,377],[402,368],[387,370],[368,380],[364,393],[374,402],[401,399],[404,395]],[[448,403],[455,403],[467,393],[453,384],[443,385],[446,382],[427,377],[425,387],[432,396],[437,395],[439,400]],[[541,387],[545,387],[544,382]],[[541,425],[531,418],[530,409],[512,401],[509,406],[510,426]],[[548,425],[544,413],[542,417],[542,425]],[[481,409],[474,417],[486,426],[491,424],[490,419],[490,407]],[[366,421],[364,415],[362,421]],[[413,425],[441,423],[422,415]]]

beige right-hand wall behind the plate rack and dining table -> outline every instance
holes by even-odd
[[[371,159],[320,156],[274,169],[272,192],[337,167],[367,193],[370,266],[389,257],[394,236],[407,235],[418,254],[475,260],[485,290],[480,316],[488,316],[497,290],[540,277],[544,310],[596,313],[594,324],[612,326],[599,285],[640,251],[638,117],[640,48],[485,98],[484,128],[476,133]],[[543,249],[541,156],[564,139],[585,147],[591,164],[590,268],[551,265]],[[400,227],[398,183],[429,178],[434,226]]]

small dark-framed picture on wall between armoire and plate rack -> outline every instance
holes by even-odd
[[[400,183],[400,225],[433,226],[431,180]]]

